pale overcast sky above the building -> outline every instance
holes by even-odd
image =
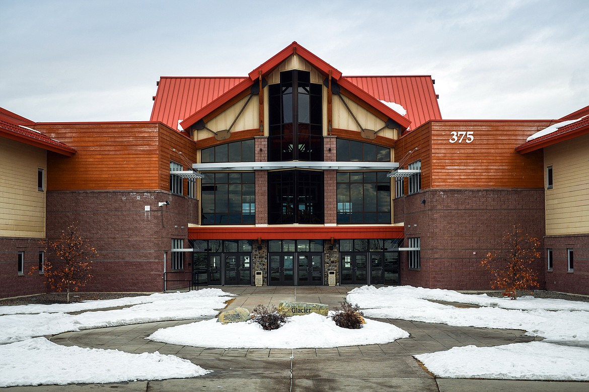
[[[589,1],[0,0],[0,107],[147,121],[160,76],[245,76],[293,41],[344,75],[432,75],[442,118],[589,105]]]

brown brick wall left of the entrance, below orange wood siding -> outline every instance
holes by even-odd
[[[158,206],[169,201],[170,205]],[[149,210],[145,209],[149,207]],[[171,239],[188,238],[188,222],[195,223],[198,201],[169,192],[81,191],[48,192],[47,237],[59,237],[75,225],[98,251],[94,278],[84,291],[162,291],[164,253],[171,270]],[[187,246],[187,242],[184,242]],[[190,254],[184,253],[184,273],[190,278]],[[168,276],[168,279],[178,277]],[[188,283],[170,283],[168,290]]]

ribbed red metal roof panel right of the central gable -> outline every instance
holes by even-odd
[[[429,120],[442,119],[432,77],[424,76],[353,76],[343,77],[376,99],[395,102],[407,111],[411,129]]]

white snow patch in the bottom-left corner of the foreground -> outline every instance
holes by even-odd
[[[176,356],[64,347],[44,337],[0,346],[0,369],[0,387],[163,380],[210,373]]]

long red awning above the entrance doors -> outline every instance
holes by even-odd
[[[403,238],[403,226],[189,227],[190,240],[359,240]]]

